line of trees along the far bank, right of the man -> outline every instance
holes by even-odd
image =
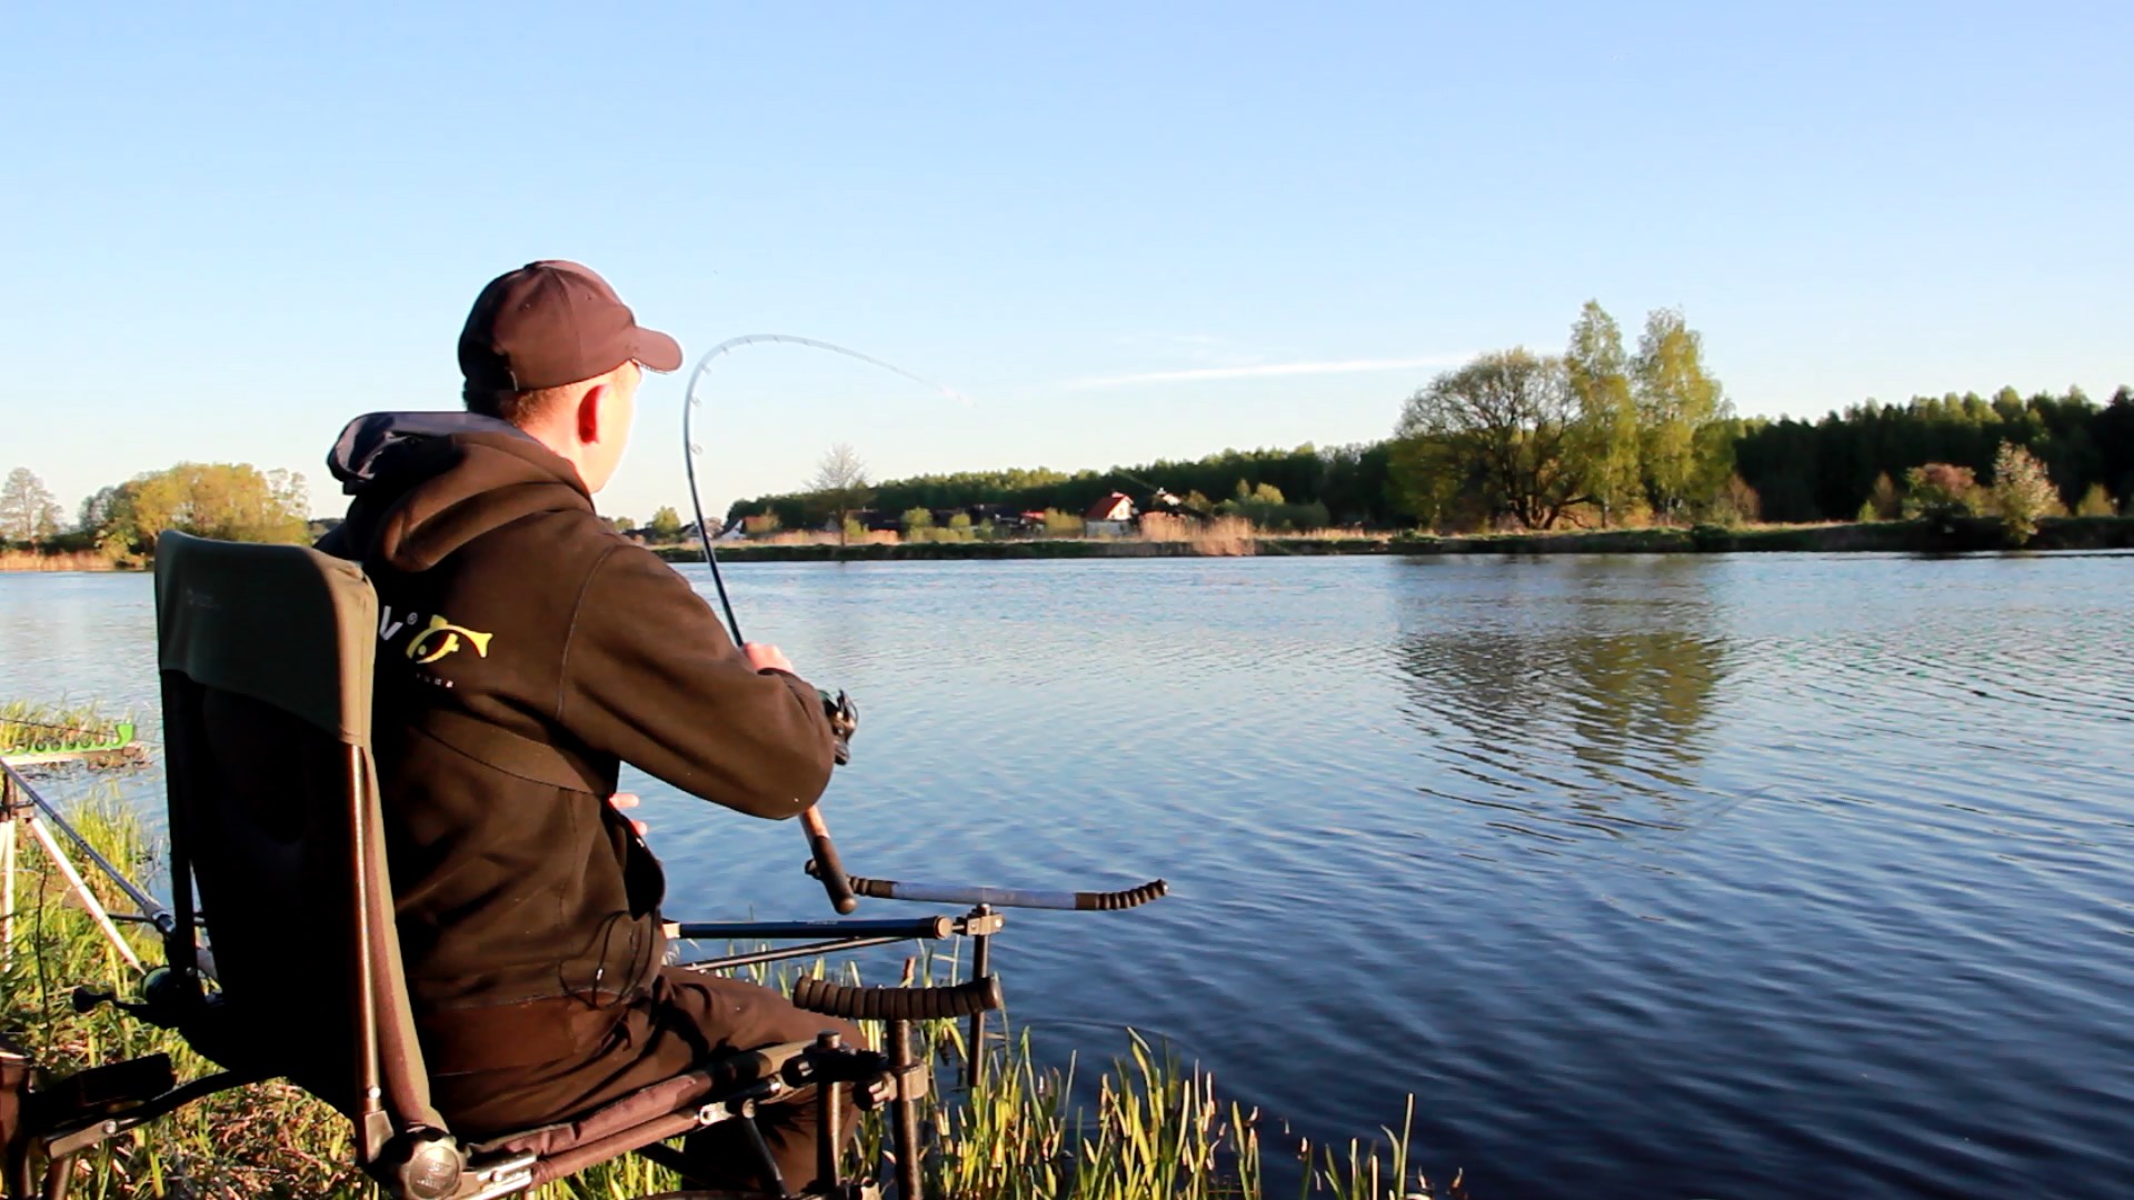
[[[1897,480],[1914,468],[1944,463],[1991,478],[2004,444],[2029,453],[2059,508],[2108,512],[2134,495],[2134,393],[2125,386],[2104,406],[2079,389],[2029,399],[2002,389],[1993,399],[1869,401],[1820,421],[1741,419],[1679,310],[1650,312],[1633,348],[1615,318],[1588,301],[1562,352],[1477,354],[1411,393],[1381,442],[1223,451],[1101,472],[881,483],[817,472],[796,491],[736,500],[728,523],[811,527],[862,506],[1080,512],[1112,491],[1146,502],[1159,489],[1187,498],[1189,510],[1263,525],[1306,512],[1332,525],[1438,532],[1850,521],[1899,515],[1908,483]],[[841,453],[851,459],[849,448]]]

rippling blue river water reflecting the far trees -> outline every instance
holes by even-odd
[[[1133,1027],[1315,1142],[1413,1093],[1483,1200],[2134,1196],[2134,557],[730,585],[864,707],[856,871],[1172,882],[1012,916],[1050,1061]],[[0,574],[0,698],[152,711],[152,638],[143,577]],[[828,916],[794,828],[634,781],[674,916]]]

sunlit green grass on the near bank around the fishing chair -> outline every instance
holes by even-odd
[[[85,803],[68,820],[130,875],[156,875],[156,846],[113,801]],[[107,890],[102,880],[94,882]],[[117,895],[105,899],[124,907]],[[173,1057],[179,1078],[213,1070],[173,1033],[122,1019],[111,1008],[87,1016],[73,1010],[68,991],[75,984],[132,980],[87,916],[66,903],[64,882],[34,846],[23,854],[15,916],[15,952],[0,967],[0,1023],[47,1068],[64,1074],[160,1051]],[[160,957],[149,940],[134,937],[147,961]],[[941,963],[941,974],[947,978],[952,963]],[[950,1078],[967,1053],[958,1027],[933,1023],[924,1036],[943,1080]],[[1093,1087],[1037,1068],[1020,1040],[997,1053],[990,1078],[975,1095],[943,1087],[924,1104],[922,1130],[933,1142],[926,1196],[1257,1200],[1268,1194],[1263,1155],[1297,1153],[1278,1147],[1257,1112],[1225,1104],[1212,1078],[1140,1042]],[[862,1153],[871,1155],[881,1140],[881,1119],[871,1115]],[[107,1142],[79,1166],[75,1194],[83,1200],[373,1198],[376,1189],[350,1166],[350,1153],[341,1117],[288,1085],[269,1083],[190,1104]],[[672,1187],[679,1183],[666,1170],[625,1157],[534,1196],[625,1200]],[[1315,1147],[1302,1164],[1302,1194],[1400,1200],[1430,1196],[1430,1189],[1408,1162],[1406,1136],[1387,1134],[1385,1142]],[[1455,1185],[1438,1194],[1462,1191]]]

